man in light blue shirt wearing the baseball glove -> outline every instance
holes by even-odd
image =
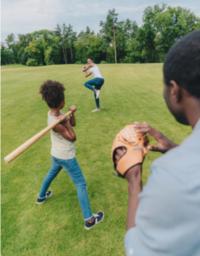
[[[126,254],[131,256],[200,255],[200,31],[169,50],[163,65],[163,96],[169,111],[193,131],[180,145],[146,123],[134,123],[158,145],[163,156],[151,164],[141,191],[141,167],[125,174],[129,189]],[[123,150],[117,149],[116,164]]]

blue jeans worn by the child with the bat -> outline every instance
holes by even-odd
[[[51,158],[51,168],[47,173],[46,177],[44,177],[43,179],[43,185],[38,197],[40,199],[45,198],[50,183],[54,180],[54,177],[56,177],[60,170],[63,168],[68,173],[69,177],[71,177],[72,181],[75,183],[77,187],[77,197],[83,212],[83,219],[88,220],[89,218],[92,218],[93,213],[91,212],[91,208],[89,206],[89,196],[87,192],[85,178],[80,169],[80,166],[77,163],[77,159],[73,158],[70,160],[61,160],[54,157],[53,155],[51,155]]]

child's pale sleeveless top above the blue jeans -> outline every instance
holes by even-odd
[[[64,114],[60,111],[60,115]],[[48,125],[54,123],[57,120],[56,116],[50,115],[50,111],[48,112]],[[62,124],[62,123],[61,123]],[[64,125],[64,124],[62,124]],[[51,133],[51,154],[59,159],[62,160],[69,160],[75,157],[75,143],[71,143],[67,141],[64,137],[60,135],[59,132],[54,131],[53,129],[50,130]]]

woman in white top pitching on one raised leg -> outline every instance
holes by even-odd
[[[100,88],[104,84],[104,78],[100,74],[100,69],[97,67],[91,58],[87,60],[88,66],[83,66],[83,72],[85,73],[85,77],[89,77],[90,74],[94,75],[94,79],[87,81],[84,85],[85,87],[89,88],[90,90],[94,91],[94,99],[96,102],[96,109],[92,112],[100,111]],[[90,68],[90,72],[87,73],[87,70]],[[92,86],[94,85],[94,87]]]

